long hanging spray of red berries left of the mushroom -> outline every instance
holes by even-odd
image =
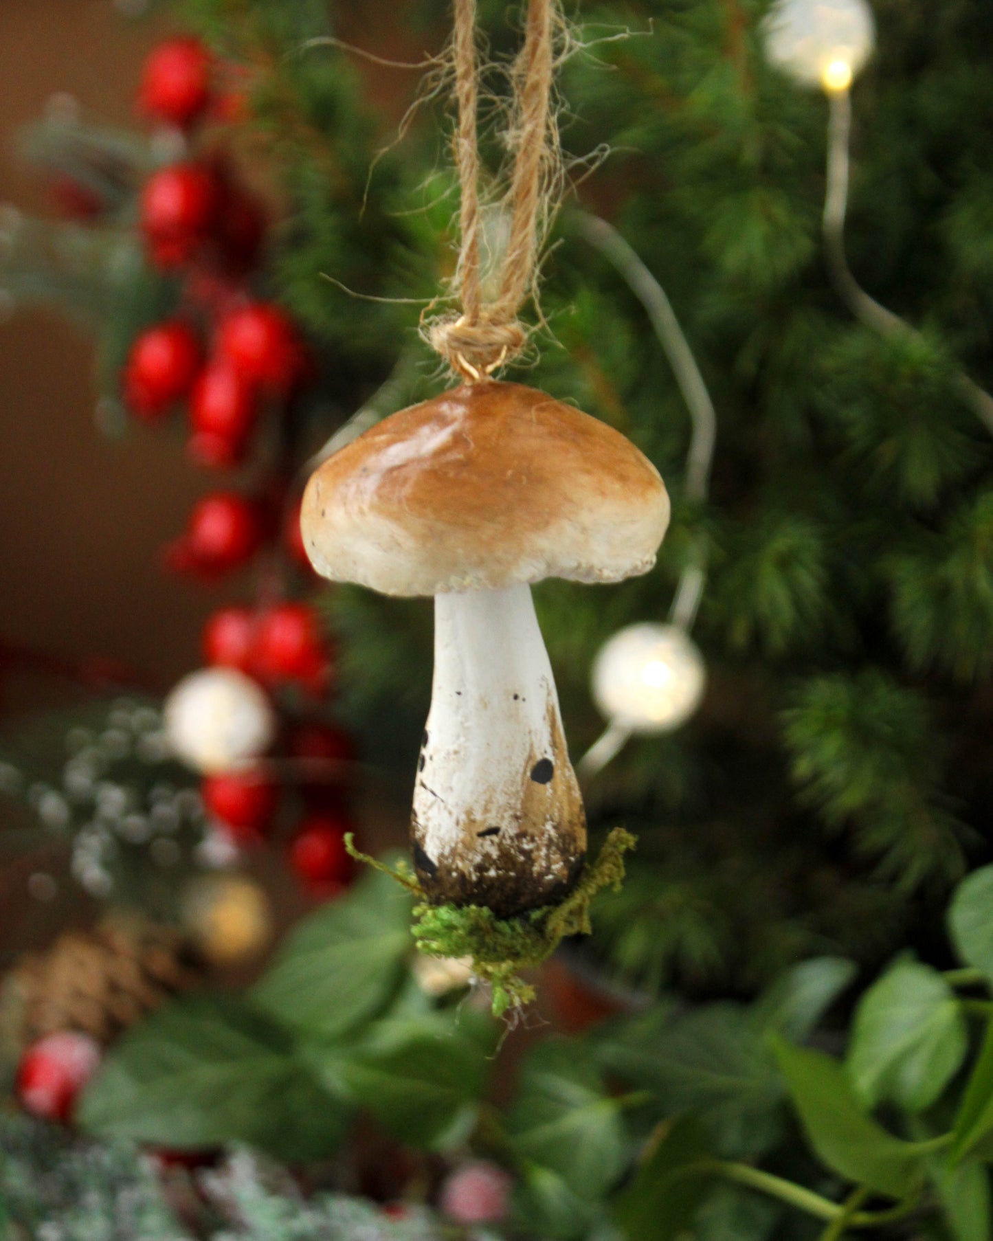
[[[202,43],[171,38],[145,63],[140,110],[180,130],[190,150],[204,120],[231,118],[231,96],[218,92],[218,77],[220,67]],[[285,418],[294,396],[314,377],[297,324],[251,293],[266,225],[264,211],[216,150],[159,169],[142,192],[149,258],[182,277],[184,309],[134,341],[122,377],[124,397],[133,413],[149,422],[185,402],[190,454],[207,468],[242,462],[263,414]],[[233,490],[201,499],[166,551],[169,566],[213,578],[247,565],[267,542],[307,566],[299,501],[293,503],[281,482],[293,475],[295,464],[283,460],[274,468],[264,501]],[[273,519],[274,508],[288,510],[283,522]],[[290,686],[319,700],[331,688],[331,652],[314,608],[303,602],[217,612],[207,622],[204,654],[207,664],[238,669],[273,692]],[[289,860],[308,886],[331,895],[353,874],[344,845],[350,823],[340,772],[334,777],[354,759],[353,746],[340,730],[325,725],[284,731],[287,766],[299,773],[305,807]],[[204,781],[209,813],[240,845],[258,843],[272,828],[281,799],[279,784],[267,774],[273,767],[278,764]]]

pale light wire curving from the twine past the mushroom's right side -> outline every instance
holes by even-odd
[[[675,316],[672,302],[634,248],[613,225],[585,212],[576,216],[576,223],[586,241],[611,262],[631,292],[642,303],[655,336],[669,360],[693,423],[683,494],[690,500],[703,501],[706,499],[710,486],[710,467],[717,437],[717,418],[710,392]],[[683,629],[684,633],[689,633],[696,619],[705,583],[706,539],[699,536],[694,541],[689,563],[679,576],[669,612],[669,623]],[[580,779],[587,783],[602,772],[607,763],[621,753],[632,732],[633,730],[628,725],[612,720],[576,764]]]

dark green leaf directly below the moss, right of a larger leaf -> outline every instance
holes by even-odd
[[[384,1023],[354,1059],[340,1065],[355,1103],[412,1147],[464,1139],[483,1092],[483,1047],[446,1023]]]

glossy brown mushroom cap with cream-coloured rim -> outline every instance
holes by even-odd
[[[401,410],[310,478],[314,567],[382,594],[645,573],[669,524],[655,467],[619,432],[520,383]]]

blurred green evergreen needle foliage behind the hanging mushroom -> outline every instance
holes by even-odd
[[[956,376],[993,383],[993,156],[976,119],[993,19],[967,0],[874,4],[878,50],[853,93],[849,257],[920,329],[884,339],[853,323],[830,285],[827,102],[766,65],[767,7],[578,5],[565,141],[580,158],[611,154],[575,171],[544,266],[547,328],[510,375],[631,436],[674,500],[645,578],[536,589],[575,753],[602,727],[588,690],[600,644],[664,618],[701,539],[708,549],[694,633],[709,666],[704,707],[674,736],[632,742],[587,797],[595,829],[622,823],[642,839],[616,933],[608,916],[595,946],[649,988],[753,987],[825,943],[879,961],[989,849],[993,788],[974,738],[988,735],[993,665],[993,446]],[[366,102],[361,57],[328,42],[334,5],[184,0],[176,14],[246,74],[243,150],[279,186],[283,222],[259,292],[323,350],[320,388],[288,434],[317,448],[359,410],[381,417],[438,391],[417,323],[454,262],[443,97],[397,138]],[[513,53],[513,14],[487,2],[482,15],[493,55]],[[418,52],[441,47],[441,0],[411,0],[403,20]],[[499,93],[499,74],[488,86]],[[115,398],[124,344],[175,297],[122,228],[155,156],[78,117],[50,117],[31,148],[83,184],[91,175],[110,210],[96,228],[7,221],[6,283],[93,314]],[[97,153],[130,175],[108,185]],[[484,153],[494,170],[493,134]],[[689,419],[669,365],[642,307],[575,227],[577,206],[613,218],[693,345],[717,411],[706,504],[683,495]],[[429,603],[334,588],[328,614],[341,639],[340,715],[406,791],[428,705]]]

